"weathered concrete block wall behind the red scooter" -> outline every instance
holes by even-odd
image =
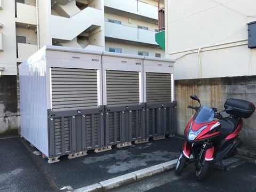
[[[195,94],[202,105],[224,109],[223,104],[228,98],[244,99],[256,105],[256,76],[223,77],[175,80],[175,100],[178,102],[178,134],[183,135],[184,129],[194,110],[187,109],[188,105],[198,105],[190,99]],[[223,113],[223,116],[227,114]],[[256,149],[256,113],[244,119],[240,138],[243,148]]]

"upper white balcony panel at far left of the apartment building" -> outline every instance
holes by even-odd
[[[1,0],[0,0],[1,1]],[[17,3],[17,22],[36,25],[36,7]]]

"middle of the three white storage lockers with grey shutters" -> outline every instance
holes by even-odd
[[[104,52],[103,105],[106,146],[123,147],[145,138],[142,71],[144,57]]]

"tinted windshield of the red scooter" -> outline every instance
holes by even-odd
[[[201,107],[201,109],[197,111],[197,114],[195,114],[196,124],[208,123],[213,121],[213,119],[214,119],[214,111],[212,108],[208,106]]]

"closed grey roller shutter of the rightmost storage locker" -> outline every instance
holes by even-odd
[[[148,103],[171,101],[171,74],[147,73],[146,86]]]

